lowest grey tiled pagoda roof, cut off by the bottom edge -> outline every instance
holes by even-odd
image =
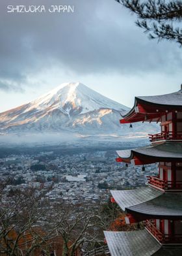
[[[162,246],[146,230],[104,231],[111,256],[181,256],[181,246]]]

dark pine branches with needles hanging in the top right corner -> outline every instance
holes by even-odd
[[[137,15],[136,25],[149,33],[149,39],[172,40],[182,45],[182,1],[115,0]]]

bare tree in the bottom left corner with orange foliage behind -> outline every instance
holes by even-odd
[[[41,251],[53,234],[38,227],[45,215],[42,195],[27,190],[6,197],[3,190],[4,187],[0,189],[0,255],[29,256],[37,249]]]

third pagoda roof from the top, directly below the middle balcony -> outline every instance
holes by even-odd
[[[129,213],[165,217],[182,216],[181,193],[164,193],[153,187],[110,192],[122,210],[127,210]]]

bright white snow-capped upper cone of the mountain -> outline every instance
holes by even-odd
[[[32,101],[26,111],[32,108],[43,110],[49,107],[52,109],[59,108],[69,115],[74,112],[84,114],[99,108],[113,108],[121,111],[128,110],[126,106],[104,97],[80,82],[61,84],[42,97]]]

